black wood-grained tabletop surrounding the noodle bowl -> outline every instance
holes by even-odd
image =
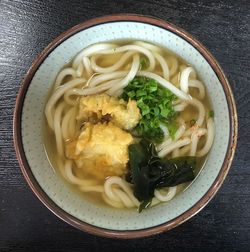
[[[209,205],[167,233],[130,241],[85,234],[48,211],[24,181],[12,142],[15,98],[37,54],[77,23],[119,12],[195,35],[227,74],[239,115],[236,156]],[[250,1],[1,0],[0,83],[0,251],[250,251]]]

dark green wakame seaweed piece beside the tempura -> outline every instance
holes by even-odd
[[[134,184],[134,195],[141,202],[138,211],[150,206],[155,189],[192,181],[195,165],[195,157],[159,158],[154,144],[145,139],[130,145],[126,180]]]

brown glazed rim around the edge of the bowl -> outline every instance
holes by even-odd
[[[209,65],[212,67],[213,71],[217,75],[220,83],[222,85],[223,91],[226,95],[227,106],[229,109],[229,120],[230,120],[230,136],[229,136],[229,143],[227,147],[226,156],[220,172],[216,177],[215,181],[208,189],[208,191],[203,195],[203,197],[197,201],[191,208],[187,211],[182,213],[181,215],[177,216],[176,218],[162,223],[160,225],[149,227],[146,229],[139,229],[139,230],[111,230],[105,229],[98,226],[93,226],[88,224],[78,218],[72,216],[71,214],[67,213],[63,209],[61,209],[58,205],[56,205],[53,200],[43,191],[37,180],[35,179],[31,168],[28,164],[28,161],[25,157],[23,145],[22,145],[22,133],[21,133],[21,117],[22,117],[22,108],[23,102],[25,99],[26,92],[29,88],[30,82],[32,81],[33,76],[35,75],[36,71],[38,70],[39,66],[43,63],[46,57],[63,41],[71,37],[72,35],[88,29],[90,27],[104,24],[104,23],[112,23],[112,22],[139,22],[145,24],[151,24],[165,30],[168,30],[177,36],[184,39],[186,42],[191,44],[197,51],[201,53],[201,55],[206,59]],[[56,216],[60,219],[64,220],[68,224],[91,234],[109,237],[109,238],[140,238],[146,237],[154,234],[161,233],[163,231],[168,231],[183,222],[190,219],[192,216],[197,214],[200,210],[202,210],[207,203],[213,198],[216,194],[218,189],[221,187],[225,177],[229,171],[231,166],[236,145],[237,145],[237,135],[238,135],[238,119],[237,119],[237,110],[236,105],[233,97],[233,93],[229,82],[222,71],[220,65],[216,61],[216,59],[212,56],[212,54],[202,45],[196,38],[190,35],[188,32],[184,31],[183,29],[173,25],[167,21],[162,19],[145,16],[145,15],[138,15],[138,14],[114,14],[114,15],[107,15],[96,17],[90,20],[87,20],[83,23],[77,24],[70,28],[69,30],[63,32],[57,38],[55,38],[33,61],[31,67],[29,68],[27,74],[25,75],[21,87],[19,89],[19,93],[17,95],[15,109],[14,109],[14,118],[13,118],[13,139],[14,139],[14,147],[16,151],[16,156],[19,162],[19,166],[23,173],[24,178],[26,179],[28,185],[30,186],[31,190],[35,193],[35,195],[39,198],[39,200]]]

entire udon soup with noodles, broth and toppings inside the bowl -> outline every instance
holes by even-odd
[[[144,41],[83,49],[58,73],[45,117],[46,151],[65,181],[139,212],[193,181],[214,139],[195,69]]]

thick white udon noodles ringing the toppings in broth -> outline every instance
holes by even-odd
[[[147,62],[144,69],[142,58]],[[67,157],[65,148],[81,130],[78,113],[82,97],[102,93],[120,97],[128,83],[138,76],[157,81],[176,96],[173,108],[178,112],[178,129],[171,137],[168,127],[160,126],[164,139],[155,144],[158,156],[206,156],[215,133],[213,117],[208,116],[204,84],[192,66],[157,45],[143,41],[110,42],[83,49],[58,73],[45,107],[47,131],[53,133],[56,143],[53,158],[64,179],[84,193],[99,194],[115,208],[140,205],[133,185],[123,175],[108,176],[104,180],[85,176],[76,168],[74,160]],[[189,123],[191,119],[195,119],[193,124]],[[177,189],[178,186],[155,189],[151,206],[171,200]]]

